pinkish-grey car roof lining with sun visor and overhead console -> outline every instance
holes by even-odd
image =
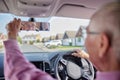
[[[31,0],[31,2],[46,2],[50,3],[50,8],[39,7],[39,6],[29,6],[24,5],[18,6],[15,2],[23,0],[0,0],[0,12],[1,13],[12,13],[18,16],[28,16],[28,17],[71,17],[71,18],[83,18],[88,19],[91,15],[102,5],[112,2],[115,0]],[[38,4],[39,5],[39,4]],[[28,7],[28,9],[27,9]],[[14,9],[12,9],[14,8]],[[32,10],[31,10],[32,9]],[[26,11],[25,11],[26,10]],[[40,11],[41,10],[41,11]],[[46,10],[43,15],[42,11]],[[20,14],[20,13],[26,14]]]

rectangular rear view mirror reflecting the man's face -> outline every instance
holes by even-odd
[[[24,31],[49,31],[50,23],[48,22],[30,22],[22,21],[20,25],[20,30]]]

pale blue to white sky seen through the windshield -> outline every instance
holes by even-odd
[[[12,14],[0,14],[0,32],[6,34],[5,26],[14,18],[20,18],[23,21],[27,21],[29,17],[18,17]],[[36,22],[49,22],[50,31],[21,31],[19,35],[23,37],[26,34],[40,34],[41,37],[49,37],[58,33],[64,34],[65,31],[78,31],[80,26],[87,26],[89,24],[88,19],[76,19],[65,17],[48,17],[48,18],[35,18]]]

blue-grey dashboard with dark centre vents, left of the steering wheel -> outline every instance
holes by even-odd
[[[61,52],[63,53],[63,52]],[[24,56],[34,64],[38,69],[47,72],[51,76],[55,77],[54,73],[54,61],[56,60],[58,52],[25,52]],[[4,54],[0,53],[0,80],[4,80]]]

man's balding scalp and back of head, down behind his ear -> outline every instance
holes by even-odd
[[[104,32],[120,60],[120,2],[112,2],[99,9],[91,18],[91,31]]]

